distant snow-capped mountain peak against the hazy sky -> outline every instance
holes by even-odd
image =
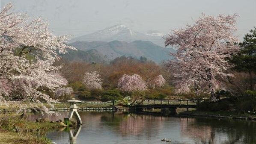
[[[154,44],[164,47],[163,33],[157,31],[148,31],[145,33],[136,32],[123,24],[108,27],[106,29],[82,35],[70,40],[75,41],[125,41],[132,42],[137,40],[152,41]]]

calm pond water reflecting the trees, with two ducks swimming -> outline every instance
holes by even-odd
[[[215,118],[179,118],[134,113],[79,112],[83,125],[77,138],[56,130],[47,137],[56,144],[256,144],[256,122]],[[47,116],[58,120],[68,115]],[[38,116],[30,115],[30,120]],[[71,129],[75,133],[75,129]]]

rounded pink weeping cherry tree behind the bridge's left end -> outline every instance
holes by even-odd
[[[138,74],[124,74],[118,80],[117,86],[121,91],[127,92],[144,91],[147,89],[146,82]]]

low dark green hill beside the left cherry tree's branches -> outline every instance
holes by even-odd
[[[62,55],[63,59],[76,62],[107,62],[107,56],[98,52],[98,50],[68,50],[68,53]]]

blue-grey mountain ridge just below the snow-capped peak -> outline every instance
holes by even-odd
[[[113,59],[119,56],[132,56],[134,58],[140,58],[140,56],[143,56],[147,59],[160,63],[171,58],[169,55],[169,51],[171,49],[160,47],[153,44],[151,41],[76,41],[70,43],[70,45],[79,49],[80,52],[97,50],[102,53],[102,55],[107,56],[108,60],[111,59],[111,56],[113,56]]]

